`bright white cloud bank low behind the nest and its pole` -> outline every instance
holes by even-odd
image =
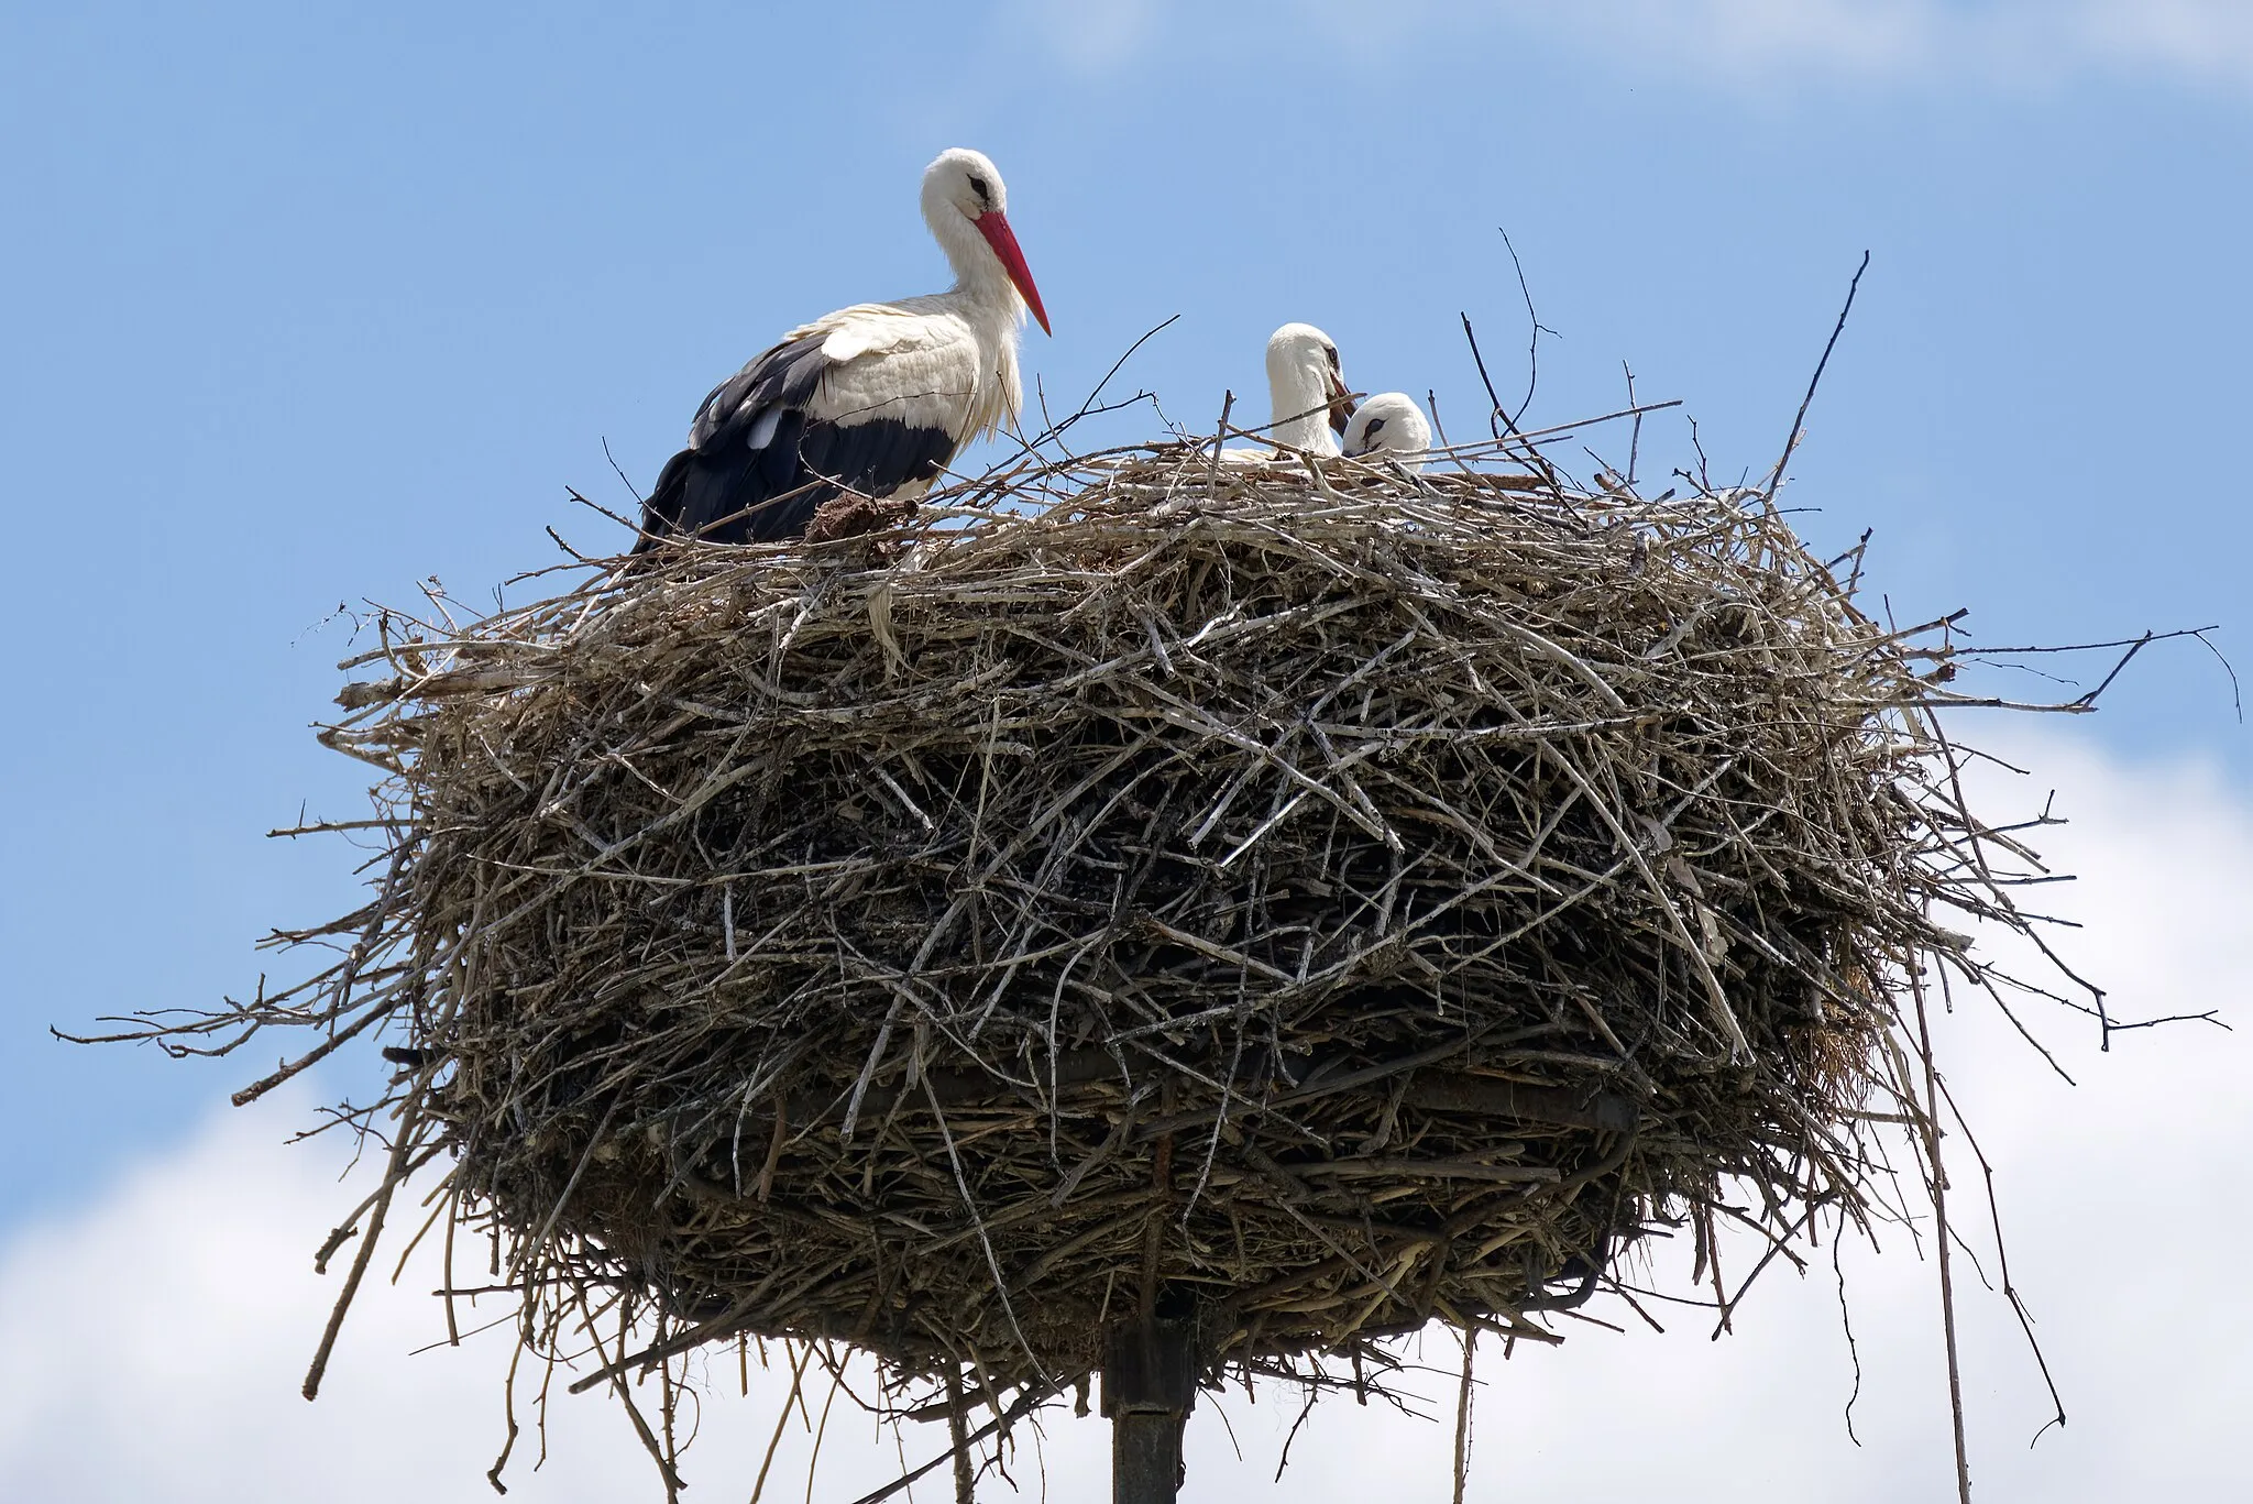
[[[2010,737],[2041,778],[2005,794],[2039,807],[2048,787],[2075,825],[2046,846],[2071,888],[2041,888],[2073,961],[2113,983],[2120,1012],[2253,1017],[2253,812],[2212,773],[2129,769],[2055,735]],[[1996,776],[1998,787],[2012,780]],[[2041,1324],[2071,1423],[2034,1450],[2039,1378],[1998,1297],[1965,1272],[1967,1407],[1983,1497],[2059,1504],[2122,1497],[2239,1497],[2253,1481],[2237,1441],[2253,1294],[2244,1154],[2253,1148],[2248,1042],[2206,1026],[2122,1035],[2095,1055],[2084,1030],[2043,1017],[2082,1078],[2050,1078],[1980,1003],[1940,1021],[1951,1076],[2001,1175],[2012,1272]],[[444,1333],[428,1260],[354,1310],[318,1405],[297,1398],[333,1279],[309,1249],[349,1204],[333,1150],[275,1145],[284,1112],[237,1114],[149,1161],[99,1204],[0,1247],[0,1497],[178,1499],[185,1504],[394,1504],[473,1499],[500,1441],[507,1335],[410,1355]],[[1958,1218],[1985,1245],[1978,1175],[1958,1145]],[[1730,1269],[1748,1267],[1739,1249]],[[1992,1267],[1992,1263],[1989,1263]],[[1947,1405],[1931,1265],[1888,1236],[1881,1258],[1847,1256],[1865,1369],[1856,1450],[1838,1412],[1852,1373],[1827,1267],[1771,1274],[1737,1321],[1708,1342],[1701,1312],[1663,1312],[1665,1337],[1573,1328],[1561,1351],[1503,1364],[1478,1412],[1473,1497],[1947,1497]],[[487,1317],[498,1315],[487,1310]],[[1428,1346],[1453,1362],[1449,1344]],[[773,1425],[777,1387],[732,1396],[732,1364],[705,1375],[689,1499],[741,1499]],[[556,1387],[561,1391],[561,1384]],[[1433,1380],[1435,1409],[1451,1384]],[[1273,1484],[1295,1414],[1284,1396],[1228,1403],[1244,1448],[1208,1409],[1192,1430],[1192,1495],[1253,1499],[1444,1497],[1446,1427],[1332,1403],[1300,1434]],[[818,1403],[816,1403],[818,1412]],[[520,1400],[529,1418],[529,1403]],[[511,1499],[653,1499],[626,1423],[602,1396],[552,1407],[552,1457],[532,1470],[529,1427]],[[910,1457],[942,1445],[910,1432]],[[791,1432],[768,1497],[807,1497],[807,1436]],[[813,1497],[840,1499],[890,1477],[897,1452],[845,1400],[831,1416]],[[1025,1497],[1102,1497],[1099,1423],[1057,1418],[1016,1477]],[[946,1497],[921,1490],[928,1502]],[[786,1486],[784,1486],[786,1484]],[[989,1481],[980,1497],[1007,1497]]]

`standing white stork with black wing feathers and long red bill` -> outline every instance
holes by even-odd
[[[714,388],[642,503],[633,552],[680,534],[793,539],[834,496],[921,496],[964,444],[1014,422],[1016,336],[1027,309],[1048,331],[1048,311],[1007,207],[994,162],[942,151],[924,223],[953,289],[816,318]]]

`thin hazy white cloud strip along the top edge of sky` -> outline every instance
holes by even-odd
[[[1183,0],[1012,0],[1081,68],[1122,65],[1169,34],[1210,32]],[[2253,86],[2242,0],[1264,0],[1230,20],[1397,52],[1480,32],[1550,36],[1611,59],[1728,83],[1924,79],[1949,88],[2149,74]]]

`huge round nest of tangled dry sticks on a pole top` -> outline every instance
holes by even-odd
[[[676,546],[365,658],[390,859],[304,1008],[388,1019],[392,1179],[453,1159],[527,1337],[989,1396],[1149,1310],[1208,1373],[1548,1337],[1728,1184],[1859,1206],[1983,906],[1915,640],[1757,494],[1194,446]]]

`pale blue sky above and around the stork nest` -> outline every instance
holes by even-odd
[[[545,525],[615,546],[563,496],[624,501],[602,440],[647,483],[782,327],[940,286],[912,194],[949,144],[1009,178],[1057,327],[1027,372],[1077,401],[1178,313],[1122,381],[1190,426],[1302,318],[1471,428],[1458,311],[1525,381],[1507,228],[1557,331],[1528,422],[1618,406],[1627,361],[1762,471],[1868,248],[1807,528],[1874,528],[1904,618],[2221,622],[2253,667],[2226,0],[5,7],[0,1240],[270,1064],[45,1028],[248,992],[264,929],[351,902],[340,850],[261,839],[358,798],[304,733],[338,604],[482,600]],[[2253,785],[2192,643],[2071,735]]]

